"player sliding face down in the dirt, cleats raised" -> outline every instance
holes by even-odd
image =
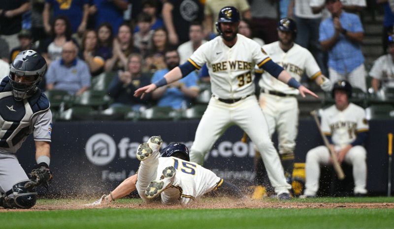
[[[170,143],[163,150],[160,136],[151,137],[137,148],[141,161],[138,172],[118,187],[86,206],[105,205],[137,189],[145,202],[161,199],[164,204],[188,204],[206,193],[214,197],[243,198],[233,184],[196,163],[189,162],[189,149],[182,143]]]

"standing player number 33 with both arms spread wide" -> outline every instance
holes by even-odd
[[[237,34],[239,21],[236,8],[224,7],[216,23],[220,36],[201,45],[186,63],[172,69],[162,80],[137,89],[134,96],[143,96],[157,87],[177,81],[207,63],[213,96],[198,124],[190,160],[201,165],[216,140],[230,125],[236,124],[256,143],[278,198],[290,199],[291,186],[286,182],[263,112],[253,96],[255,86],[252,70],[257,64],[280,81],[298,88],[302,96],[305,93],[317,95],[301,86],[274,63],[258,43]]]

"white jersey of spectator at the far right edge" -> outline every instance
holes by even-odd
[[[393,57],[390,54],[379,57],[373,64],[369,75],[382,81],[382,87],[394,87]]]

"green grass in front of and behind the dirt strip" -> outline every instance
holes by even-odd
[[[39,200],[39,204],[70,200]],[[118,201],[118,200],[117,200]],[[204,200],[201,200],[204,201]],[[278,200],[264,200],[278,201]],[[292,202],[346,203],[393,202],[393,198],[314,198]],[[120,200],[135,203],[140,200]],[[239,208],[239,209],[130,209],[0,212],[1,229],[101,229],[101,228],[394,228],[389,208]]]

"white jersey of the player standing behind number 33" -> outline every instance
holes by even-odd
[[[296,43],[287,52],[284,52],[280,48],[279,41],[264,45],[263,50],[271,57],[272,61],[282,66],[298,82],[304,73],[311,80],[316,79],[316,77],[322,74],[312,54]],[[259,86],[267,90],[279,91],[286,94],[297,95],[299,93],[298,89],[288,86],[265,71],[263,71]]]

